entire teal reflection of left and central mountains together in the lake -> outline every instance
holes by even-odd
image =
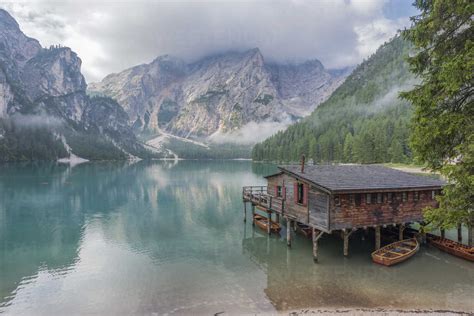
[[[40,270],[73,267],[91,220],[110,242],[157,260],[179,260],[196,240],[235,240],[241,186],[261,181],[249,167],[224,161],[0,165],[0,296]],[[199,245],[191,251],[202,255]]]

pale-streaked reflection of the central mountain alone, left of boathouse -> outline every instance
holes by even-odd
[[[250,162],[181,161],[170,169],[156,162],[142,165],[131,189],[135,198],[104,225],[110,239],[168,262],[182,259],[183,252],[201,258],[238,242],[242,186],[263,181],[250,171]]]

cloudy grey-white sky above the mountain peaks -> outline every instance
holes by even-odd
[[[369,56],[416,14],[413,0],[3,1],[23,32],[81,57],[89,82],[171,54],[259,47],[266,60],[327,68]]]

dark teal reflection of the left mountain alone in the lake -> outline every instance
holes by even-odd
[[[0,165],[0,296],[40,270],[73,266],[87,218],[128,201],[132,166]]]

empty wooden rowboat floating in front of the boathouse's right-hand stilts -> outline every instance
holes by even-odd
[[[384,266],[392,266],[407,260],[420,249],[415,238],[394,242],[372,252],[372,260]]]

